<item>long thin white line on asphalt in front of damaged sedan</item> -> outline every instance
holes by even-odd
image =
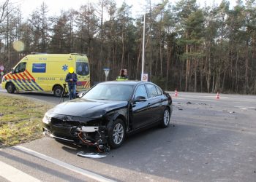
[[[74,165],[69,165],[66,162],[62,162],[62,161],[60,161],[58,159],[54,159],[53,157],[48,157],[45,154],[40,154],[37,151],[33,151],[33,150],[28,149],[28,148],[23,147],[23,146],[13,146],[13,148],[19,149],[21,151],[26,152],[27,154],[31,154],[31,155],[33,155],[35,157],[39,157],[40,159],[44,159],[44,160],[46,160],[48,162],[52,162],[55,165],[59,165],[59,166],[64,167],[64,168],[66,168],[68,170],[72,170],[75,173],[79,173],[81,175],[85,175],[86,177],[92,178],[92,179],[97,180],[97,181],[104,181],[104,182],[105,181],[113,181],[113,180],[110,180],[108,178],[103,177],[102,175],[97,175],[96,173],[91,173],[88,170],[83,170],[82,168],[75,167]]]

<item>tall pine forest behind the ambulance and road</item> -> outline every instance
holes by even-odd
[[[106,15],[107,14],[107,15]],[[99,0],[80,9],[48,15],[42,3],[29,17],[9,0],[0,2],[0,65],[10,71],[31,52],[85,53],[91,81],[108,80],[127,68],[140,80],[143,15],[146,15],[145,67],[164,90],[256,94],[255,0],[199,7],[196,0],[176,4],[147,1],[135,17],[131,6]],[[107,18],[103,18],[107,17]]]

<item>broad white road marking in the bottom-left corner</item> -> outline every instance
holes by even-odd
[[[16,182],[16,181],[17,182],[20,182],[20,181],[37,182],[37,181],[39,181],[37,178],[34,178],[31,175],[23,173],[21,170],[18,170],[15,167],[12,167],[11,165],[7,165],[1,161],[0,161],[0,175],[1,175],[1,177],[7,179],[8,181],[12,181],[12,182]]]

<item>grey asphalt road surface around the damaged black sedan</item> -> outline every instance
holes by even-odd
[[[170,94],[169,127],[132,135],[105,158],[78,157],[78,151],[89,149],[45,137],[20,146],[49,160],[12,147],[0,150],[0,161],[40,181],[101,181],[79,169],[113,181],[255,181],[256,96],[220,94],[217,100],[215,94]],[[15,95],[59,103],[52,95]],[[53,159],[78,168],[70,170]]]

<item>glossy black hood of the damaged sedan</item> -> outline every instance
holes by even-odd
[[[127,101],[117,100],[86,100],[78,98],[61,103],[48,111],[48,114],[82,116],[86,118],[97,118],[109,111],[127,106]]]

